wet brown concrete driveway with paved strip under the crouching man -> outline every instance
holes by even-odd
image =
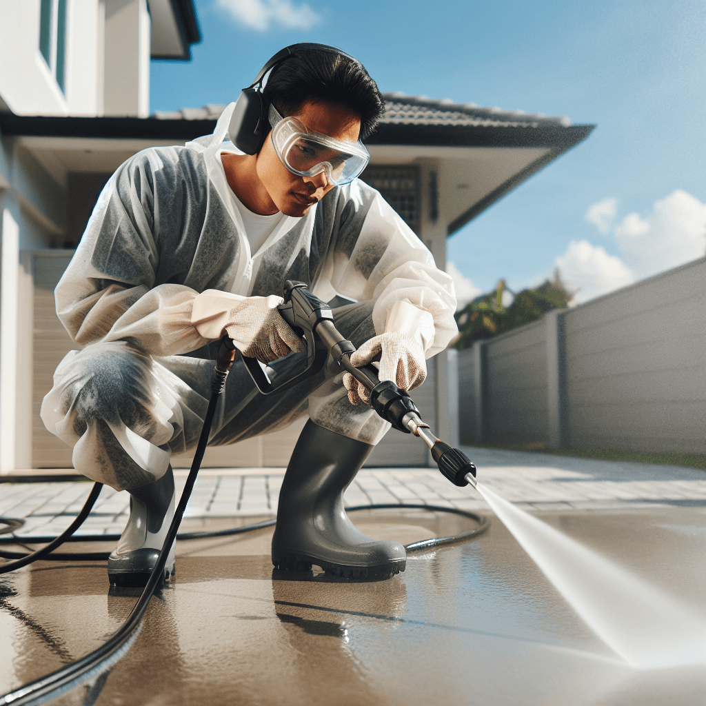
[[[706,618],[706,474],[467,449],[489,488]],[[247,524],[276,509],[283,469],[203,472],[184,527]],[[183,483],[184,474],[178,473]],[[54,535],[88,484],[1,484],[18,535]],[[366,469],[349,504],[429,503],[490,515],[436,469]],[[104,490],[86,532],[116,532],[126,493]],[[472,526],[456,515],[352,515],[409,543]],[[271,530],[181,542],[177,580],[152,600],[131,650],[61,704],[698,704],[706,667],[635,671],[592,633],[492,517],[465,544],[410,555],[383,582],[273,570]],[[69,545],[80,549],[81,544]],[[85,545],[88,548],[88,545]],[[90,545],[91,551],[109,544]],[[135,601],[102,562],[37,562],[1,578],[0,693],[96,647]],[[706,662],[706,656],[705,656]]]

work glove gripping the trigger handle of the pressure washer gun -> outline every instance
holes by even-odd
[[[246,357],[271,363],[292,351],[304,352],[304,342],[277,311],[282,297],[246,297],[228,311],[225,333]]]

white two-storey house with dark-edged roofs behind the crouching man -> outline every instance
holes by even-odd
[[[80,12],[78,5],[80,4]],[[223,106],[150,115],[150,56],[189,59],[191,0],[5,0],[0,5],[0,472],[68,467],[44,429],[42,397],[76,347],[53,289],[100,189],[138,150],[213,132]],[[118,52],[116,47],[120,47]],[[131,47],[126,51],[126,47]],[[592,126],[392,93],[363,179],[445,267],[446,239]],[[414,398],[448,438],[447,363],[438,355]],[[286,465],[299,427],[210,449],[205,465]],[[373,465],[426,465],[426,446],[388,434]],[[175,465],[186,465],[186,457]]]

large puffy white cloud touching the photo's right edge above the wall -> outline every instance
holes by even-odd
[[[618,247],[642,280],[704,256],[706,203],[677,189],[655,201],[652,213],[629,213],[615,228]]]

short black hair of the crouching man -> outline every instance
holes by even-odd
[[[342,105],[360,116],[360,138],[371,136],[385,112],[385,101],[363,64],[341,54],[306,49],[273,68],[263,95],[282,116],[307,101]]]

